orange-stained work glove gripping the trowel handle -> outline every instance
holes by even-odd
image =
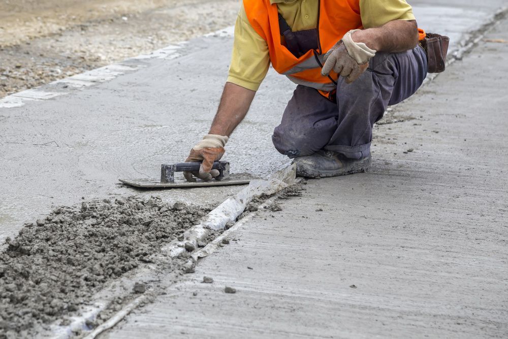
[[[203,140],[198,142],[191,150],[190,154],[185,160],[186,163],[202,162],[199,167],[199,172],[183,172],[183,176],[187,181],[196,181],[196,176],[204,181],[209,181],[219,175],[218,170],[212,170],[213,162],[220,160],[226,151],[224,146],[228,142],[228,137],[207,134]]]

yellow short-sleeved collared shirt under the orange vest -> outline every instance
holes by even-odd
[[[328,0],[330,1],[330,0]],[[270,0],[293,32],[317,26],[318,0]],[[393,20],[415,20],[405,0],[360,0],[364,28],[379,27]],[[270,67],[266,41],[250,25],[245,9],[238,13],[228,82],[258,90]]]

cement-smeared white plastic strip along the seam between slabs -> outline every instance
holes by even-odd
[[[288,165],[275,172],[269,180],[252,180],[248,187],[244,188],[236,195],[226,199],[222,204],[215,207],[204,217],[200,224],[195,225],[180,234],[176,239],[165,245],[161,251],[154,254],[151,259],[156,265],[167,265],[168,261],[178,262],[180,274],[193,273],[197,261],[218,249],[214,250],[208,247],[209,244],[217,243],[221,239],[220,235],[236,225],[237,221],[244,219],[249,213],[258,211],[260,205],[276,195],[277,199],[289,199],[293,196],[301,196],[303,189],[301,180],[296,179],[295,165]],[[295,185],[295,182],[297,183]],[[280,193],[279,193],[280,192]],[[280,211],[277,203],[271,203],[263,207],[271,211]],[[228,242],[222,241],[218,246],[224,246]],[[200,250],[200,248],[203,248]],[[190,258],[189,258],[190,257]],[[164,269],[161,269],[164,271]],[[148,273],[148,275],[152,275]],[[138,273],[143,276],[143,273]],[[134,279],[134,277],[133,277]],[[146,279],[146,274],[145,274]],[[151,302],[160,295],[163,289],[154,289],[150,294],[142,295],[126,304],[116,314],[110,314],[110,317],[100,326],[93,329],[86,338],[94,338],[103,331],[112,328],[126,315],[136,309],[138,306]],[[65,336],[62,336],[65,337]]]

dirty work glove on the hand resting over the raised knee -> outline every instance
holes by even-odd
[[[324,57],[325,65],[321,74],[328,76],[330,71],[345,78],[346,83],[352,83],[369,67],[369,60],[376,54],[376,50],[370,49],[363,42],[354,42],[351,35],[360,29],[347,32]]]

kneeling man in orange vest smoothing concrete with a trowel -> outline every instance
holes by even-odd
[[[372,127],[427,75],[424,33],[404,0],[243,0],[229,77],[209,134],[186,161],[210,180],[229,136],[247,114],[269,65],[297,84],[273,132],[297,175],[365,171]]]

